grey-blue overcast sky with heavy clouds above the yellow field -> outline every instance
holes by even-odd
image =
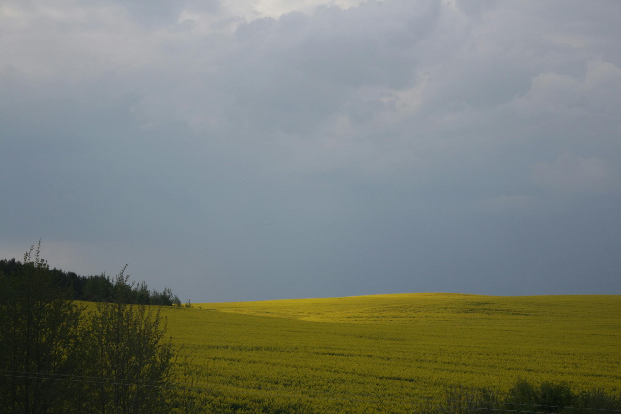
[[[619,0],[0,0],[0,258],[193,302],[621,294]]]

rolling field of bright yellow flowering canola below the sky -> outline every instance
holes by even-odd
[[[522,378],[621,389],[621,296],[396,294],[162,310],[212,412],[441,412]]]

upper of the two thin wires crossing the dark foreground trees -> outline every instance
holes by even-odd
[[[70,374],[47,374],[45,372],[25,372],[25,371],[9,371],[6,369],[0,369],[0,372],[13,372],[13,373],[17,373],[17,374],[30,374],[30,375],[35,375],[35,376],[63,376],[63,377],[75,377],[75,378],[90,378],[90,379],[105,379],[105,380],[112,380],[112,381],[136,381],[136,382],[166,382],[166,381],[162,381],[162,380],[148,380],[148,379],[123,379],[123,378],[112,378],[112,377],[93,377],[93,376],[79,376],[79,375],[70,375]],[[54,378],[49,378],[49,379],[54,379]],[[114,384],[114,383],[107,383],[107,384]],[[134,384],[124,384],[124,385],[134,385]],[[221,391],[221,392],[225,392],[224,390],[214,390],[214,389],[208,389],[210,391]],[[246,389],[249,390],[249,389]],[[265,390],[265,391],[278,391],[278,389],[263,389],[263,388],[258,388],[258,389],[252,389],[252,390]],[[436,401],[436,402],[465,402],[465,403],[476,403],[476,404],[505,404],[505,402],[499,402],[499,401],[475,401],[475,400],[439,400],[437,398],[430,398],[430,397],[406,397],[406,396],[402,396],[399,397],[398,395],[378,395],[378,394],[354,394],[354,393],[348,393],[348,392],[330,392],[330,391],[315,391],[315,390],[300,390],[298,389],[298,391],[301,392],[309,392],[312,394],[331,394],[331,395],[353,395],[353,396],[357,396],[357,397],[376,397],[376,398],[397,398],[397,399],[402,399],[402,400],[426,400],[426,401]],[[256,393],[256,394],[262,394],[265,395],[265,393],[261,392],[261,393]],[[561,405],[539,405],[539,404],[522,404],[522,403],[506,403],[509,405],[520,405],[520,406],[524,406],[524,407],[533,407],[533,406],[537,406],[537,407],[546,407],[546,408],[571,408],[574,410],[594,410],[594,411],[604,411],[604,412],[621,412],[621,410],[607,410],[605,408],[589,408],[589,407],[563,407]]]

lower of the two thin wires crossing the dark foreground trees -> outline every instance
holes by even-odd
[[[60,380],[60,381],[71,381],[71,382],[88,382],[91,384],[104,384],[104,385],[126,385],[135,387],[152,387],[152,388],[163,388],[163,389],[178,389],[178,390],[189,390],[189,391],[210,391],[210,392],[220,392],[220,393],[237,393],[237,394],[259,394],[263,396],[269,397],[289,397],[289,398],[319,398],[323,400],[335,400],[335,401],[349,401],[349,402],[371,402],[371,403],[391,403],[396,405],[411,405],[411,406],[422,406],[422,407],[435,407],[435,408],[461,408],[463,410],[485,410],[485,411],[502,411],[502,412],[512,412],[512,413],[528,413],[528,414],[556,414],[550,412],[542,412],[542,411],[526,411],[526,410],[508,410],[503,408],[481,408],[481,407],[453,407],[451,405],[437,405],[437,404],[424,404],[424,403],[405,403],[405,402],[395,402],[395,401],[378,401],[378,400],[357,400],[351,398],[329,398],[329,397],[317,397],[312,395],[291,395],[291,394],[265,394],[262,392],[245,392],[245,391],[236,391],[236,390],[217,390],[217,389],[204,389],[204,388],[188,388],[188,387],[170,387],[165,385],[150,385],[150,384],[124,384],[121,382],[103,382],[103,381],[91,381],[91,380],[79,380],[79,379],[68,379],[68,378],[50,378],[50,377],[33,377],[33,376],[16,376],[11,374],[0,374],[2,377],[16,377],[16,378],[27,378],[27,379],[52,379],[52,380]],[[564,408],[564,407],[563,407]]]

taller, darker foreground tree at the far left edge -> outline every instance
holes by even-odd
[[[32,253],[35,251],[35,257]],[[59,380],[81,370],[83,308],[55,286],[39,257],[40,241],[12,272],[0,272],[0,407],[6,413],[67,413],[78,384]]]

